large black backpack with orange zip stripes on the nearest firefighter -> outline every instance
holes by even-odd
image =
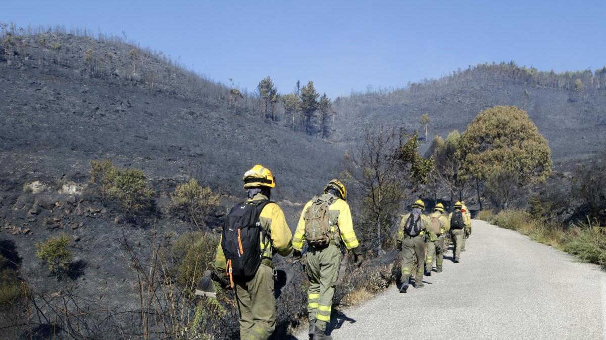
[[[267,241],[267,230],[259,222],[263,208],[271,201],[242,202],[231,208],[221,238],[227,261],[227,272],[240,278],[251,278],[261,265],[261,234]]]

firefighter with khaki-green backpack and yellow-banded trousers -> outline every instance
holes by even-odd
[[[310,322],[309,337],[313,340],[330,339],[326,325],[330,322],[339,265],[341,244],[353,254],[359,266],[362,255],[353,230],[351,212],[347,204],[347,190],[341,181],[331,180],[324,188],[324,195],[316,196],[305,204],[295,237],[293,258],[301,259],[304,243],[307,243],[305,270],[309,278],[307,312]]]

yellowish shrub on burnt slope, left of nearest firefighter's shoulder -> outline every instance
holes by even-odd
[[[205,226],[206,215],[220,203],[219,195],[191,178],[187,183],[178,185],[170,195],[169,209],[171,214],[202,227]]]

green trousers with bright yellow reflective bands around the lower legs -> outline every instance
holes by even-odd
[[[321,330],[326,330],[326,325],[330,322],[335,295],[332,284],[337,280],[340,264],[341,249],[334,243],[323,248],[307,249],[307,313],[309,320],[316,320],[316,328]]]

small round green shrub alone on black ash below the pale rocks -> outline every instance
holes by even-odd
[[[36,243],[36,257],[48,264],[48,271],[55,275],[67,273],[72,251],[67,249],[71,241],[68,235],[51,237],[43,243]]]

